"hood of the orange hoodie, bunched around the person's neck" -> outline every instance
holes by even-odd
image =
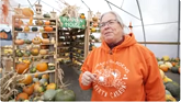
[[[129,46],[132,46],[136,43],[137,43],[137,41],[135,39],[134,34],[129,33],[129,34],[124,35],[123,43],[115,46],[113,49],[115,49],[115,48],[116,49],[122,49],[122,48],[125,48],[125,47],[129,47]],[[110,47],[108,46],[108,44],[104,41],[102,42],[101,48],[103,48],[104,50],[110,50]]]

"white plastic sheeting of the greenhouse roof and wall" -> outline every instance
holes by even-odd
[[[10,0],[11,1],[11,0]],[[16,8],[20,3],[22,8],[31,7],[39,0],[13,0],[11,5]],[[64,4],[59,0],[41,0],[43,13],[56,11],[59,13]],[[140,20],[143,16],[146,42],[178,42],[179,35],[179,0],[65,0],[69,4],[80,7],[79,12],[88,15],[90,8],[93,13],[103,13],[111,9],[118,12],[124,23],[128,26],[133,24],[133,32],[138,42],[144,42],[144,31]],[[138,3],[137,3],[138,1]],[[110,2],[110,3],[108,3]],[[140,12],[138,10],[140,7]],[[32,8],[32,7],[31,7]],[[34,7],[33,7],[34,9]],[[178,45],[146,44],[157,57],[169,55],[178,57]]]

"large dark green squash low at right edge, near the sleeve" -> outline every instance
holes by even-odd
[[[171,93],[172,97],[180,97],[180,86],[174,81],[168,81],[165,83],[166,89]]]

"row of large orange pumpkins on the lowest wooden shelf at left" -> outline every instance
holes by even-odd
[[[35,73],[35,72],[44,72],[46,70],[54,70],[55,69],[55,64],[53,63],[38,63],[36,66],[31,66],[31,60],[25,59],[22,63],[16,63],[15,64],[15,70],[18,73],[26,73],[30,71],[30,73]]]

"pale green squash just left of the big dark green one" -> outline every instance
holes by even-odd
[[[54,101],[56,91],[53,89],[46,90],[43,94],[44,101]]]

